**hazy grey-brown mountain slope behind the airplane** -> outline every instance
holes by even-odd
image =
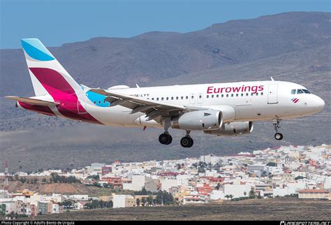
[[[260,122],[249,136],[194,133],[193,150],[184,151],[177,143],[179,131],[172,131],[177,139],[164,147],[157,140],[161,130],[142,133],[79,124],[18,110],[12,101],[1,98],[0,154],[15,162],[13,168],[64,167],[73,159],[79,166],[103,159],[173,159],[330,142],[331,13],[291,12],[232,20],[186,34],[154,31],[132,38],[91,38],[50,51],[75,80],[89,87],[269,80],[272,76],[304,85],[325,100],[325,109],[282,122],[281,142],[273,139],[272,122]],[[22,50],[0,50],[0,66],[0,96],[34,95]],[[45,163],[39,162],[40,157]],[[3,161],[0,157],[0,164]]]

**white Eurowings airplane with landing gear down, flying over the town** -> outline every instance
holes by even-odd
[[[16,107],[80,122],[127,127],[159,127],[163,145],[168,129],[186,131],[182,147],[192,147],[191,131],[214,136],[251,133],[253,122],[273,121],[274,138],[283,139],[279,123],[318,113],[324,101],[293,82],[226,82],[108,89],[79,85],[37,38],[21,40],[36,96],[6,96]]]

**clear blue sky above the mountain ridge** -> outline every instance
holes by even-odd
[[[189,32],[212,24],[290,11],[331,11],[331,0],[0,0],[0,48],[20,38],[47,46],[98,36]]]

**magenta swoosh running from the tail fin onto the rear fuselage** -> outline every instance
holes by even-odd
[[[75,90],[69,85],[66,79],[57,71],[51,68],[29,68],[36,78],[41,82],[46,91],[53,97],[54,101],[59,102],[57,110],[65,117],[84,122],[101,124],[97,119],[92,117],[85,109],[78,104],[78,97]]]

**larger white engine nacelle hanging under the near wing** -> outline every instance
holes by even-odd
[[[205,131],[219,129],[223,124],[223,116],[218,110],[198,110],[172,117],[170,123],[175,129]]]

